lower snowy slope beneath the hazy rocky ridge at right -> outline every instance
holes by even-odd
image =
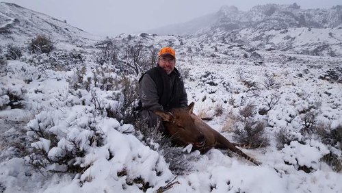
[[[200,40],[243,44],[250,49],[287,51],[305,55],[342,56],[342,29],[310,29],[306,27],[283,30],[254,30],[251,28],[233,31],[215,31],[199,36]]]

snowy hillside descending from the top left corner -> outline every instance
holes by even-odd
[[[99,39],[46,14],[22,8],[14,3],[0,3],[1,45],[23,44],[38,34],[51,36],[55,41],[72,42],[79,46],[88,43],[89,40]]]

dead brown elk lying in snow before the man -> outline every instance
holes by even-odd
[[[176,108],[171,112],[155,112],[163,120],[166,132],[171,136],[173,144],[176,146],[192,144],[193,149],[197,149],[200,153],[206,153],[211,148],[230,149],[253,164],[257,166],[260,164],[203,122],[196,114],[193,114],[193,110],[194,102],[187,108]]]

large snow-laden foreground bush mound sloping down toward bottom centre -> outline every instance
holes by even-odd
[[[132,125],[75,105],[43,111],[27,124],[25,162],[41,172],[68,172],[79,185],[116,184],[122,190],[159,188],[172,179],[164,159],[144,146]],[[116,188],[118,189],[118,188]]]

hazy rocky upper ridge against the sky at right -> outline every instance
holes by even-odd
[[[309,28],[339,28],[341,27],[342,6],[337,5],[330,9],[302,10],[300,6],[293,5],[257,5],[248,12],[239,11],[234,6],[222,6],[215,14],[202,16],[187,23],[163,27],[163,31],[153,29],[148,31],[155,34],[177,34],[179,29],[180,35],[207,34],[209,31],[221,29],[222,31],[232,31],[234,29],[288,29],[295,27]],[[198,23],[198,20],[205,23]],[[198,25],[196,25],[198,24]],[[206,25],[206,26],[204,26]],[[186,27],[192,26],[191,31],[187,31]],[[197,29],[194,33],[194,29]]]

